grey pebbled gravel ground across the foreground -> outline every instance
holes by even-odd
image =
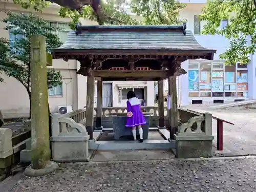
[[[146,161],[62,164],[55,173],[23,177],[11,192],[256,191],[256,160]]]

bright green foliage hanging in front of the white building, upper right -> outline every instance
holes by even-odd
[[[256,5],[254,1],[208,0],[203,8],[201,20],[206,20],[203,34],[224,35],[230,39],[229,49],[220,55],[227,59],[226,65],[236,62],[248,63],[248,54],[256,48]],[[228,19],[226,28],[221,29],[221,20]],[[250,36],[250,38],[249,38]]]

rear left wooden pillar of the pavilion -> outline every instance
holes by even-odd
[[[97,81],[96,129],[102,130],[102,80]]]

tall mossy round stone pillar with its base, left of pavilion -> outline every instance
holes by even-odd
[[[27,176],[42,176],[58,168],[51,162],[49,112],[47,94],[46,39],[41,35],[30,38],[31,73],[31,165]]]

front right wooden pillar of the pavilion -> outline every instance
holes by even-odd
[[[176,76],[168,78],[169,93],[170,93],[170,110],[169,110],[169,124],[170,124],[170,139],[174,139],[174,134],[178,131],[178,105],[177,105],[177,86]]]

